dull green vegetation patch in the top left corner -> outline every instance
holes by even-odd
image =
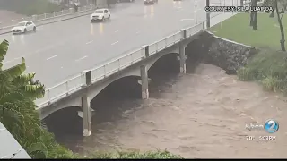
[[[0,0],[0,10],[31,16],[57,12],[61,10],[61,7],[50,3],[48,0]]]

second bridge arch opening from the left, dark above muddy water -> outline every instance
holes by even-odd
[[[100,93],[91,99],[91,108],[95,110],[92,124],[116,121],[123,113],[132,110],[128,106],[142,97],[142,86],[139,76],[126,76],[111,82]],[[94,125],[92,125],[94,126]],[[92,128],[92,132],[99,128]]]

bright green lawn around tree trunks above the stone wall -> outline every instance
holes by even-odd
[[[269,13],[258,13],[258,30],[249,26],[249,13],[239,13],[211,28],[211,31],[222,38],[243,43],[253,47],[280,49],[280,30],[277,19],[269,18]],[[283,17],[283,27],[287,31],[287,15]]]

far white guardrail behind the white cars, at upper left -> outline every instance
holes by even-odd
[[[20,21],[34,21],[34,22],[45,21],[45,20],[49,20],[49,19],[58,18],[58,17],[61,17],[61,16],[66,16],[66,15],[72,15],[72,14],[76,14],[76,13],[83,13],[83,12],[87,12],[87,11],[92,11],[95,8],[96,8],[96,6],[91,4],[91,5],[79,7],[77,12],[74,12],[74,8],[70,8],[70,9],[59,11],[59,12],[44,13],[44,14],[40,14],[40,15],[33,15],[33,16],[30,16],[30,17],[23,17],[21,19],[16,19],[16,20],[11,20],[11,21],[0,21],[0,30],[13,28]]]

